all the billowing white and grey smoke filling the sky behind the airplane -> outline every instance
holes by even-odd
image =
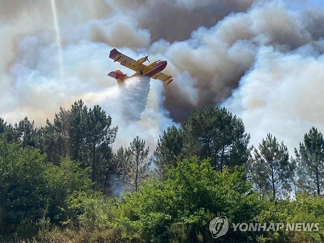
[[[100,104],[119,125],[116,147],[140,135],[154,148],[173,122],[206,104],[241,116],[256,144],[267,132],[296,146],[322,128],[324,10],[281,0],[2,0],[0,116],[37,125],[59,106]],[[42,9],[40,11],[39,9]],[[174,81],[107,77],[112,48],[167,60]],[[322,86],[321,86],[322,85]]]

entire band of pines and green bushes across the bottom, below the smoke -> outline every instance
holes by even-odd
[[[240,118],[209,105],[167,128],[149,156],[139,137],[114,152],[111,121],[81,100],[44,127],[0,118],[3,242],[215,242],[208,224],[220,214],[322,223],[318,232],[229,230],[225,242],[324,241],[324,139],[316,128],[294,156],[271,134],[253,148]],[[121,199],[110,197],[115,182]]]

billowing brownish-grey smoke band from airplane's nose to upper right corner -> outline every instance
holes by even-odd
[[[246,13],[230,14],[210,29],[199,28],[189,40],[153,43],[151,52],[163,53],[171,60],[170,72],[189,72],[195,80],[186,84],[193,85],[186,89],[196,93],[194,103],[181,92],[187,78],[178,76],[177,82],[167,87],[166,107],[172,117],[181,120],[194,107],[224,101],[263,46],[289,52],[306,44],[317,45],[324,31],[319,25],[323,16],[323,11],[292,11],[281,1],[260,1]]]

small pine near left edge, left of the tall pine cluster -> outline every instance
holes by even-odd
[[[17,142],[21,143],[22,148],[27,146],[35,146],[35,133],[34,121],[29,121],[27,117],[21,120],[18,125],[15,124],[14,136]]]

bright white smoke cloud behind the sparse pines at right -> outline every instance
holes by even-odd
[[[242,117],[253,144],[270,132],[293,151],[312,126],[324,132],[324,55],[303,54],[261,48],[253,69],[225,102]]]

